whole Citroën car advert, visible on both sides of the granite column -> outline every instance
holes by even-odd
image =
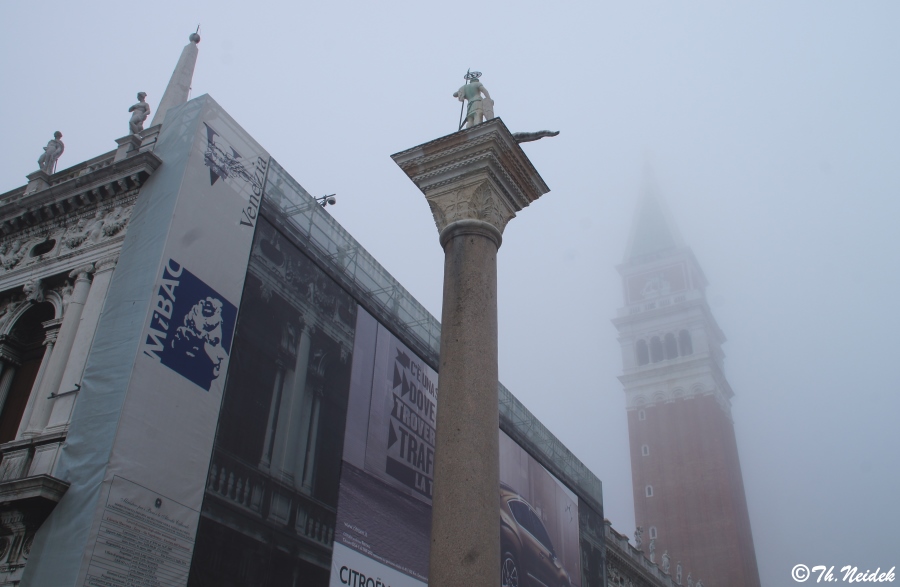
[[[427,584],[437,395],[437,373],[360,309],[331,587]],[[500,584],[580,587],[577,497],[498,434]]]

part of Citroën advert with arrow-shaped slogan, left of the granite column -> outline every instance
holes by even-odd
[[[437,393],[437,373],[360,308],[331,585],[354,584],[341,583],[345,566],[398,573],[390,587],[427,581]]]

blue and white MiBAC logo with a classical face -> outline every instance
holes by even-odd
[[[227,367],[237,308],[169,259],[152,310],[144,354],[209,391]]]

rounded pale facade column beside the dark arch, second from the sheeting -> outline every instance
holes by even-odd
[[[69,299],[62,324],[59,327],[56,345],[53,347],[53,352],[50,353],[46,371],[41,378],[41,386],[37,388],[38,394],[34,398],[34,409],[29,419],[28,428],[25,429],[26,436],[41,434],[47,426],[50,408],[52,407],[51,402],[53,401],[49,398],[51,394],[59,391],[63,370],[66,368],[69,354],[72,352],[72,345],[75,342],[75,335],[78,332],[81,312],[84,309],[84,303],[91,289],[91,280],[88,274],[93,270],[94,265],[91,263],[69,273],[69,277],[75,279],[75,287],[72,290],[72,297]]]

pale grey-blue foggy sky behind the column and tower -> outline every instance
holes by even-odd
[[[456,130],[484,72],[551,192],[506,228],[500,379],[634,530],[610,320],[636,199],[656,184],[703,267],[760,574],[900,563],[900,4],[7,2],[0,192],[53,131],[59,169],[155,110],[201,24],[209,93],[434,315],[443,252],[392,153]]]

